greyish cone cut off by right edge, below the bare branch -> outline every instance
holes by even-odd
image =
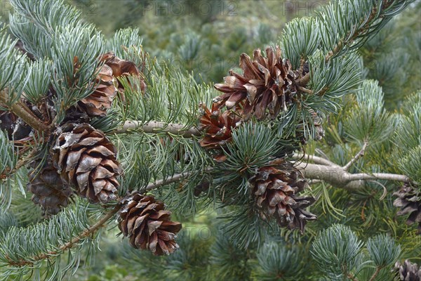
[[[421,192],[406,183],[393,195],[398,197],[393,202],[394,207],[401,208],[396,214],[398,216],[409,214],[406,223],[408,225],[418,223],[417,234],[421,235]]]

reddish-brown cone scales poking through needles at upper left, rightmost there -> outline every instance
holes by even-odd
[[[108,65],[112,69],[112,75],[114,77],[121,77],[121,76],[135,76],[140,77],[139,85],[142,92],[145,92],[146,84],[145,81],[142,79],[140,75],[140,71],[135,63],[131,62],[130,60],[121,60],[121,58],[117,58],[114,53],[109,52],[102,55],[100,61],[105,62],[105,65]],[[117,82],[117,90],[119,91],[121,98],[124,98],[124,86],[116,79]]]

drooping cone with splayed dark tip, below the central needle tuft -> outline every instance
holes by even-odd
[[[306,222],[317,218],[304,210],[313,204],[315,199],[312,196],[298,196],[308,184],[292,164],[283,162],[276,168],[264,166],[250,178],[249,183],[263,219],[267,220],[273,216],[280,226],[290,230],[300,228],[303,232]]]

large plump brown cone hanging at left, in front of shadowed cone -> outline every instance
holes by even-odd
[[[93,203],[116,200],[121,167],[116,148],[89,124],[61,133],[53,147],[53,163],[62,179]]]

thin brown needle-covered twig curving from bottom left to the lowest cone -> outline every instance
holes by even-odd
[[[87,228],[86,230],[83,230],[82,233],[80,233],[78,236],[74,237],[69,242],[62,244],[60,247],[58,247],[57,251],[48,251],[47,253],[40,254],[38,256],[32,257],[29,261],[27,260],[20,260],[20,261],[10,261],[10,264],[12,266],[27,266],[27,265],[33,265],[36,261],[41,261],[43,259],[48,259],[50,256],[57,256],[58,254],[61,254],[63,251],[66,251],[67,249],[70,249],[82,240],[85,237],[88,237],[89,235],[95,233],[96,230],[100,229],[102,226],[104,226],[105,223],[109,220],[109,218],[112,218],[114,214],[116,214],[121,209],[121,204],[116,205],[114,209],[109,211],[105,216],[103,216],[99,221],[97,221],[93,226]]]

